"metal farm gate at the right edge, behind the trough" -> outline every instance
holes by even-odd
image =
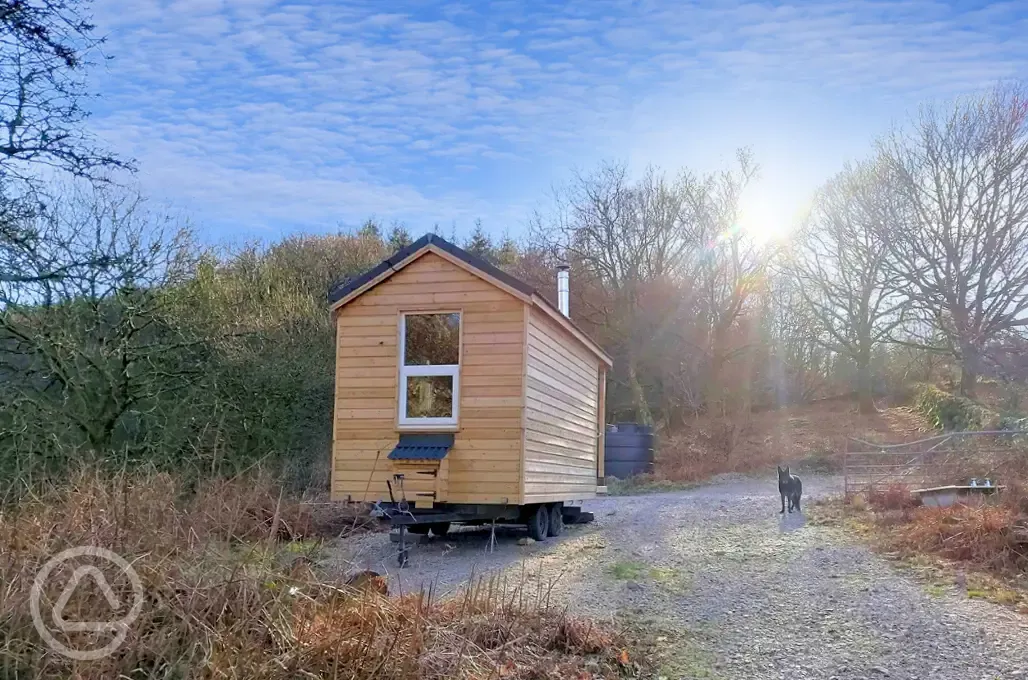
[[[1028,431],[950,432],[897,444],[849,438],[843,454],[845,493],[994,477],[1005,465],[1025,458],[1025,435]]]

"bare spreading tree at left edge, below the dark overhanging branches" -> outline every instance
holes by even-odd
[[[109,451],[134,410],[201,369],[183,361],[197,344],[171,313],[193,271],[188,235],[106,189],[70,193],[35,222],[17,244],[26,275],[0,282],[2,410],[31,410],[26,422]],[[19,429],[0,428],[0,439]]]

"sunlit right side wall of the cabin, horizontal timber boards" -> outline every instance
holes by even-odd
[[[599,361],[543,314],[528,319],[524,502],[596,495]]]

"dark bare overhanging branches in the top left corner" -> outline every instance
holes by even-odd
[[[0,0],[0,282],[54,282],[104,265],[23,260],[43,237],[33,216],[51,203],[41,169],[97,180],[131,167],[83,128],[84,70],[102,42],[88,9],[85,0]]]

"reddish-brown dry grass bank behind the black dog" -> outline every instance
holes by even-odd
[[[861,415],[848,400],[746,414],[698,417],[662,437],[656,480],[692,482],[723,472],[769,470],[778,463],[817,472],[838,469],[847,437],[901,442],[924,436],[925,420],[905,407]]]

